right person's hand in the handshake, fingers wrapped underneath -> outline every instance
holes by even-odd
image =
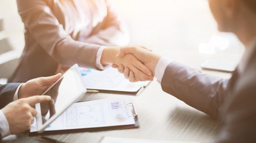
[[[159,55],[156,55],[149,50],[141,47],[122,47],[120,52],[116,55],[118,58],[125,56],[126,54],[133,54],[143,65],[145,65],[153,75],[155,75],[155,67],[161,58]],[[129,79],[131,82],[145,81],[143,78],[140,78],[139,75],[130,70],[129,67],[125,65],[112,65],[113,68],[118,68],[118,71],[123,73],[126,79]]]

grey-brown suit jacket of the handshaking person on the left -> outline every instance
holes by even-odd
[[[54,75],[59,64],[97,68],[104,46],[126,45],[126,25],[108,0],[17,0],[25,48],[8,82]]]

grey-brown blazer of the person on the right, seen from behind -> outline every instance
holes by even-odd
[[[256,142],[256,50],[244,73],[236,70],[230,79],[171,62],[161,85],[163,91],[221,121],[216,142]]]

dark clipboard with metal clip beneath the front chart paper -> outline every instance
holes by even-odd
[[[85,101],[81,101],[85,102]],[[110,127],[97,127],[97,128],[82,128],[82,129],[68,129],[68,130],[55,130],[55,131],[44,131],[39,134],[38,132],[29,132],[29,136],[42,136],[42,135],[58,135],[58,134],[70,134],[70,133],[79,133],[79,132],[98,132],[98,131],[110,131],[110,130],[124,130],[129,128],[139,128],[140,123],[138,120],[138,114],[135,108],[134,103],[128,103],[125,107],[130,106],[132,109],[132,116],[134,118],[135,124],[133,125],[120,125],[120,126],[110,126]],[[127,110],[127,108],[126,108]]]

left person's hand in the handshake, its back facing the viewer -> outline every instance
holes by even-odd
[[[133,48],[136,46],[127,46]],[[121,47],[124,48],[124,47]],[[115,64],[117,66],[123,65],[133,71],[136,76],[143,81],[153,81],[154,76],[152,72],[143,65],[133,54],[125,54],[122,57],[117,57],[116,55],[120,52],[120,47],[107,47],[102,52],[101,64]]]

